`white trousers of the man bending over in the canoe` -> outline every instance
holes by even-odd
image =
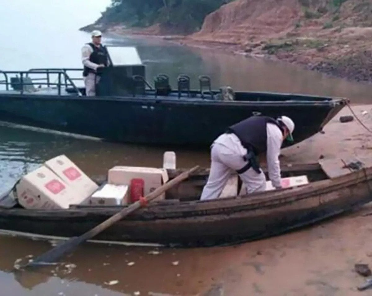
[[[239,145],[241,146],[240,142]],[[242,153],[242,150],[247,151],[243,146],[224,145],[218,142],[212,144],[211,171],[203,188],[201,200],[217,199],[231,174],[247,164],[243,159],[244,153]],[[250,168],[239,176],[246,186],[247,194],[266,189],[266,177],[262,171],[257,174],[253,168]]]

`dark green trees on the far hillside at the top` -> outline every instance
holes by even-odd
[[[231,0],[112,0],[96,24],[146,27],[161,23],[180,31],[201,28],[204,18]]]

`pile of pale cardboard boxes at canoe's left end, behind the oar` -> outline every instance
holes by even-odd
[[[133,179],[144,185],[146,196],[168,181],[163,168],[113,167],[108,184],[99,187],[65,155],[46,161],[41,167],[23,176],[13,195],[26,209],[68,209],[71,205],[118,206],[133,202],[130,186]],[[157,200],[165,199],[165,193]]]

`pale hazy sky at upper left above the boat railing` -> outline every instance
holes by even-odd
[[[110,0],[0,0],[1,70],[80,67],[78,31],[101,16]]]

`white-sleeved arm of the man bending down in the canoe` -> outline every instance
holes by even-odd
[[[269,171],[269,178],[276,189],[282,188],[280,176],[280,161],[279,154],[282,147],[283,135],[278,126],[267,123],[267,169]]]

